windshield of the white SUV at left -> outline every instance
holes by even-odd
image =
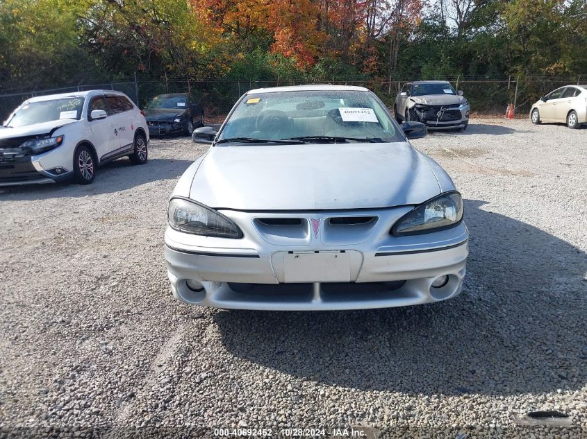
[[[18,127],[59,119],[80,119],[84,98],[62,98],[49,101],[25,102],[6,126]]]

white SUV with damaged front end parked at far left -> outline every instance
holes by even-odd
[[[94,181],[96,168],[128,156],[147,162],[149,129],[126,94],[90,90],[24,101],[0,130],[0,186]]]

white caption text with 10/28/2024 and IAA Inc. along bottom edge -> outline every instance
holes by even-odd
[[[217,438],[367,438],[367,429],[356,427],[350,428],[334,428],[334,429],[252,429],[252,428],[238,428],[238,429],[214,429],[214,436]]]

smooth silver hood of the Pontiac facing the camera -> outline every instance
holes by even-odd
[[[440,193],[429,162],[407,142],[215,146],[190,198],[238,210],[415,205]]]

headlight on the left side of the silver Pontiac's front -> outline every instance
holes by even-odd
[[[242,238],[238,225],[229,218],[195,201],[172,198],[167,210],[167,221],[180,232],[222,238]]]

